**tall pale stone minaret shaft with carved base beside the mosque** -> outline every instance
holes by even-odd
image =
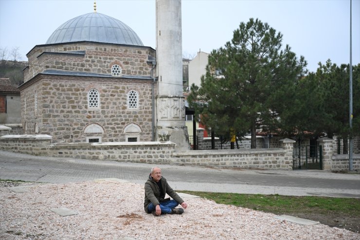
[[[189,149],[182,95],[181,0],[156,0],[156,139]]]

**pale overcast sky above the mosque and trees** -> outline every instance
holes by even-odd
[[[94,0],[0,0],[0,47],[22,60],[62,23],[93,12]],[[240,22],[259,18],[283,34],[307,68],[350,62],[350,0],[182,0],[182,50],[210,53],[231,40]],[[155,0],[96,0],[97,12],[132,28],[155,49]],[[360,62],[360,0],[352,0],[352,62]]]

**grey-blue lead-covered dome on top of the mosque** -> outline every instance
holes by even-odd
[[[144,46],[138,35],[125,23],[101,13],[88,13],[63,23],[46,44],[91,41]]]

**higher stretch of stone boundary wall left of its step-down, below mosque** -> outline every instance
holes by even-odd
[[[51,144],[49,135],[4,135],[0,149],[35,156],[170,164],[172,142],[116,142]]]

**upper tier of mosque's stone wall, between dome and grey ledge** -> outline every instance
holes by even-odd
[[[147,63],[149,55],[155,58],[155,50],[143,46],[94,42],[37,45],[28,54],[29,67],[24,71],[24,82],[44,70],[111,76],[113,64],[122,68],[123,75],[150,76],[152,65]]]

